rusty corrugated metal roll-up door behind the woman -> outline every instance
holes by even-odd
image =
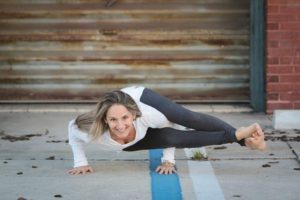
[[[248,102],[249,1],[1,3],[0,101],[95,101],[134,84]]]

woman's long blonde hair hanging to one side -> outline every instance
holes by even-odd
[[[105,94],[97,103],[95,109],[79,115],[75,120],[75,124],[80,130],[90,134],[92,139],[97,139],[108,129],[105,122],[106,113],[115,104],[125,106],[136,118],[142,115],[138,106],[128,94],[122,91],[112,91]]]

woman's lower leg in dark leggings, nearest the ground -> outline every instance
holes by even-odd
[[[147,130],[146,136],[124,151],[137,151],[157,148],[195,148],[235,142],[225,131],[195,131],[161,128]]]

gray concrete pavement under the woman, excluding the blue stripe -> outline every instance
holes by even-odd
[[[66,174],[73,164],[66,143],[67,123],[90,107],[0,105],[0,199],[152,198],[148,151],[104,152],[92,144],[86,152],[95,173]],[[210,146],[206,147],[206,161],[192,161],[184,150],[176,150],[183,199],[299,199],[300,130],[273,130],[270,116],[251,113],[247,107],[190,108],[220,117],[235,127],[259,122],[269,148],[258,152],[237,144]],[[211,170],[204,170],[209,167]],[[214,179],[213,186],[208,179]]]

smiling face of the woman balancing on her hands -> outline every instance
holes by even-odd
[[[112,105],[106,113],[106,123],[110,133],[118,139],[125,139],[134,129],[133,115],[127,108],[120,104]]]

